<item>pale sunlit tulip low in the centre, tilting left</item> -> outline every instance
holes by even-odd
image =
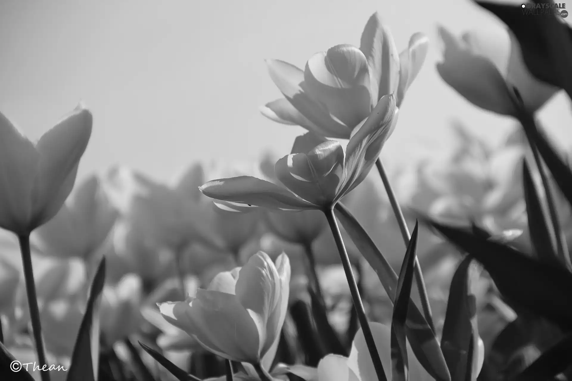
[[[271,365],[288,306],[290,264],[264,252],[221,272],[185,302],[159,304],[161,314],[208,351],[229,360]]]

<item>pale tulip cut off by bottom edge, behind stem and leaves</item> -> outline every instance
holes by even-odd
[[[380,323],[370,323],[371,331],[374,334],[376,347],[378,347],[383,368],[386,370],[386,377],[391,378],[391,328]],[[479,353],[477,361],[477,372],[483,366],[484,346],[483,340],[479,338]],[[433,381],[434,379],[419,364],[415,358],[411,347],[407,345],[407,358],[409,363],[408,378],[412,381]],[[367,351],[363,331],[360,329],[353,339],[352,349],[349,357],[339,355],[325,356],[317,366],[313,374],[307,372],[307,381],[376,381],[376,376],[370,354]]]

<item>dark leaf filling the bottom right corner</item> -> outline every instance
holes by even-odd
[[[511,381],[538,381],[553,379],[570,367],[572,359],[572,334],[545,351],[535,362]]]

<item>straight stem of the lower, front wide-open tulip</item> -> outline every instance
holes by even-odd
[[[333,208],[324,210],[325,217],[328,220],[329,227],[332,230],[333,238],[336,241],[337,250],[340,252],[341,264],[344,267],[345,277],[348,279],[349,291],[352,295],[353,307],[358,313],[358,320],[364,338],[366,339],[367,348],[370,351],[372,362],[374,363],[375,372],[379,381],[387,381],[386,372],[383,370],[382,360],[379,358],[379,352],[375,346],[374,335],[371,333],[370,324],[367,321],[366,311],[363,308],[362,298],[360,298],[358,284],[355,276],[353,276],[352,266],[349,262],[349,256],[343,239],[341,239],[340,228],[337,226],[336,216],[333,214]]]

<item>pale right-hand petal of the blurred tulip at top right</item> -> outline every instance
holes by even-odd
[[[505,27],[487,26],[463,34],[462,39],[473,53],[490,59],[506,81],[517,87],[527,109],[538,110],[558,91],[533,77],[523,61],[518,40]]]

